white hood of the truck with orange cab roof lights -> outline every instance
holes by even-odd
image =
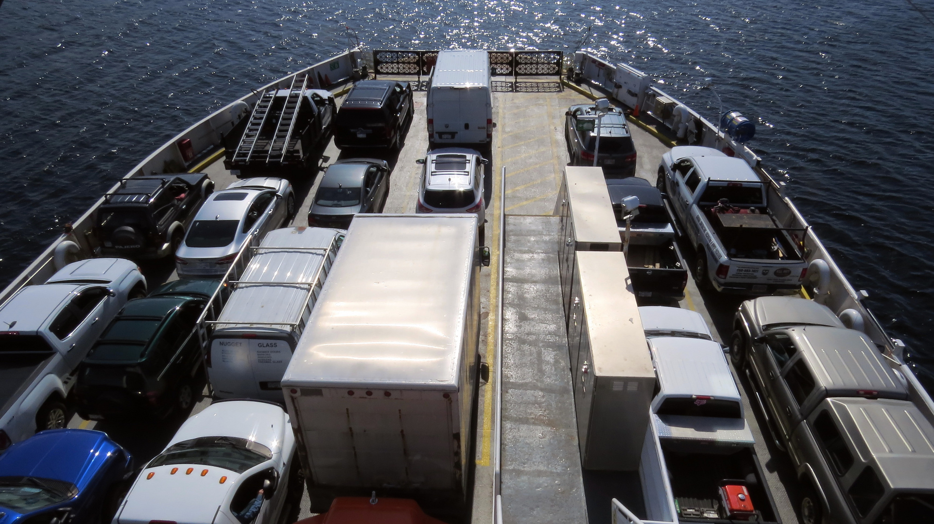
[[[166,448],[200,436],[233,436],[262,444],[277,453],[282,448],[286,414],[276,404],[254,400],[215,402],[186,420]]]

